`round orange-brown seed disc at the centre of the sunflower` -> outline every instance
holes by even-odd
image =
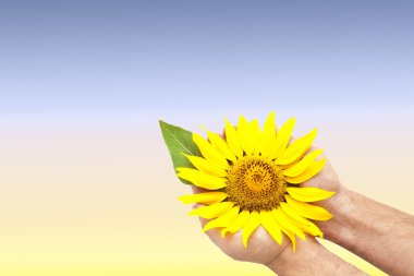
[[[259,156],[244,156],[229,170],[227,193],[241,209],[270,211],[283,201],[287,181],[282,170]]]

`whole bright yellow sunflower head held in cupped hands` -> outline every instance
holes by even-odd
[[[221,236],[242,230],[245,248],[259,226],[281,244],[283,233],[295,250],[296,236],[319,236],[322,232],[312,220],[327,220],[332,215],[312,202],[328,199],[334,192],[300,184],[316,176],[326,159],[318,158],[321,149],[309,151],[316,129],[292,143],[295,124],[292,118],[277,131],[275,112],[260,130],[257,120],[248,122],[243,116],[233,127],[226,120],[224,139],[207,131],[208,140],[193,133],[200,156],[187,155],[194,168],[179,167],[178,177],[207,192],[180,196],[185,204],[202,207],[190,215],[210,219],[203,228],[220,228]]]

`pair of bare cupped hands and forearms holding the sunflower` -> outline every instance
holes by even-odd
[[[315,149],[315,148],[313,148]],[[316,202],[333,218],[316,221],[325,238],[360,255],[391,275],[414,275],[414,217],[350,191],[341,184],[329,161],[314,178],[302,184],[334,191],[325,201]],[[195,192],[199,192],[195,188]],[[202,225],[206,219],[200,219]],[[263,227],[256,229],[245,249],[241,231],[221,238],[218,229],[208,237],[224,253],[238,261],[264,264],[278,275],[363,275],[339,259],[313,237],[297,240],[296,252],[284,237],[281,245]]]

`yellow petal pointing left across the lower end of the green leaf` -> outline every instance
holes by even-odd
[[[196,169],[176,168],[176,170],[179,171],[176,173],[179,178],[188,180],[193,184],[204,189],[217,190],[227,185],[227,179],[214,177]]]

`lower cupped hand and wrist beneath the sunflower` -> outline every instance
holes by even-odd
[[[329,170],[322,170],[316,178],[321,180],[336,175],[330,173]],[[329,185],[331,183],[329,181]],[[333,187],[327,190],[337,191]],[[193,187],[193,192],[206,191]],[[199,204],[194,207],[199,207]],[[202,226],[204,226],[208,220],[200,218],[200,221]],[[282,244],[279,245],[261,226],[252,233],[247,248],[244,248],[242,243],[242,231],[227,235],[224,239],[217,228],[208,230],[206,233],[230,257],[236,261],[266,265],[280,276],[333,275],[334,272],[340,272],[341,275],[364,275],[360,269],[329,252],[310,236],[306,237],[306,241],[296,239],[296,251],[293,253],[291,241],[287,237],[283,238]]]

